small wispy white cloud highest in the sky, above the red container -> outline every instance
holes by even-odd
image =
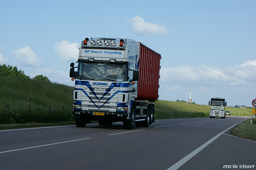
[[[130,22],[132,22],[132,29],[138,34],[148,36],[153,34],[169,35],[168,30],[163,25],[159,26],[158,24],[148,23],[138,15],[130,19]]]

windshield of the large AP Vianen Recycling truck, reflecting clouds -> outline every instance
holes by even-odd
[[[78,79],[128,81],[128,64],[78,63]]]

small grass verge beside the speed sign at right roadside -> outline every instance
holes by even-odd
[[[230,134],[240,138],[256,141],[256,124],[251,124],[251,119],[246,119],[236,125],[236,127],[231,130]]]

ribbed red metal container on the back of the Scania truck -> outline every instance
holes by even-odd
[[[140,43],[140,42],[139,42]],[[136,100],[158,100],[161,54],[140,43],[139,80]]]

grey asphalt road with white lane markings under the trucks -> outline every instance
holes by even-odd
[[[0,170],[256,170],[256,142],[230,135],[246,118],[0,130]]]

